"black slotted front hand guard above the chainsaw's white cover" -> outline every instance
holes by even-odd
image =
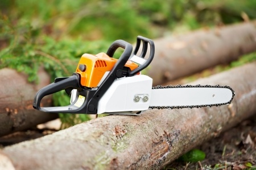
[[[142,52],[141,55],[137,56],[137,53],[139,51],[139,47],[141,46],[142,43]],[[147,47],[148,44],[150,44],[150,55],[148,57],[148,59],[144,59],[144,57],[146,56],[147,53]],[[145,38],[143,36],[137,36],[137,43],[136,43],[136,47],[134,49],[133,55],[130,57],[130,59],[132,59],[132,57],[140,57],[144,60],[143,64],[139,65],[138,68],[134,69],[133,71],[128,73],[128,76],[134,76],[135,74],[137,74],[138,72],[142,71],[144,68],[148,67],[148,65],[151,63],[151,61],[153,60],[155,55],[155,44],[153,42],[153,40]]]

